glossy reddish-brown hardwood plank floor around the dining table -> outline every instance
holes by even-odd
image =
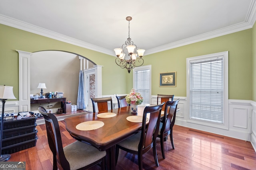
[[[64,121],[59,121],[63,146],[74,142]],[[38,125],[36,146],[11,154],[9,161],[26,162],[26,170],[52,169],[52,152],[48,146],[46,127]],[[145,170],[255,170],[256,152],[250,142],[174,125],[175,149],[170,138],[165,142],[162,158],[160,139],[157,139],[159,167],[154,163],[152,150],[143,156]],[[117,170],[138,169],[138,156],[120,150]],[[100,170],[99,166],[90,170]]]

